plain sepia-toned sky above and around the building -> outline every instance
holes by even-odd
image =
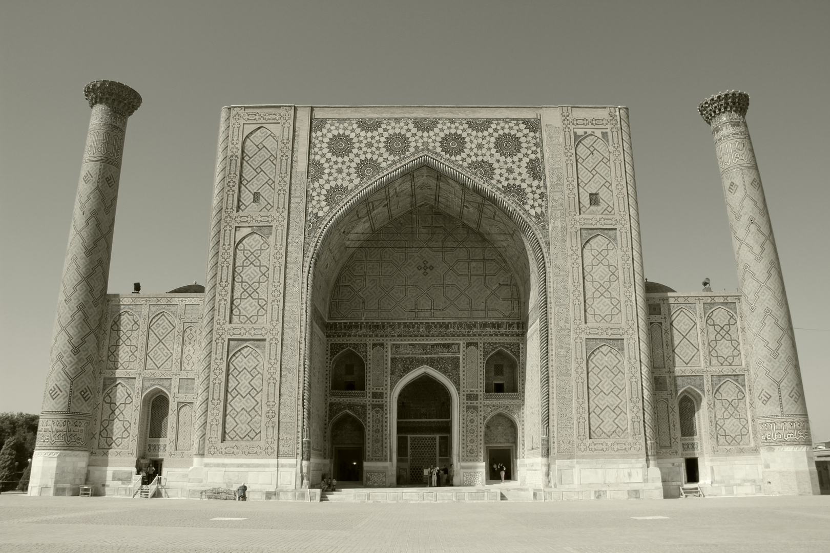
[[[110,292],[204,283],[228,104],[631,110],[647,278],[737,289],[701,100],[745,90],[813,439],[830,440],[830,2],[0,2],[0,411],[38,413],[90,109],[129,119]]]

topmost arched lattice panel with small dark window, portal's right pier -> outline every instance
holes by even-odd
[[[613,213],[611,187],[611,156],[608,144],[595,134],[587,134],[576,145],[577,178],[579,179],[580,213]],[[591,201],[591,194],[594,196]]]

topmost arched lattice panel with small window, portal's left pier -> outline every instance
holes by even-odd
[[[242,178],[239,181],[239,211],[271,211],[274,206],[277,144],[274,134],[264,127],[245,138]],[[257,192],[258,197],[255,197]]]

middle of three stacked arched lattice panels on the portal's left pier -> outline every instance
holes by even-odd
[[[251,232],[239,241],[233,264],[231,323],[264,324],[268,313],[268,240]]]

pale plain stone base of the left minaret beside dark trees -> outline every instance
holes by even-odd
[[[30,496],[76,496],[86,483],[90,454],[38,449],[32,456]]]

